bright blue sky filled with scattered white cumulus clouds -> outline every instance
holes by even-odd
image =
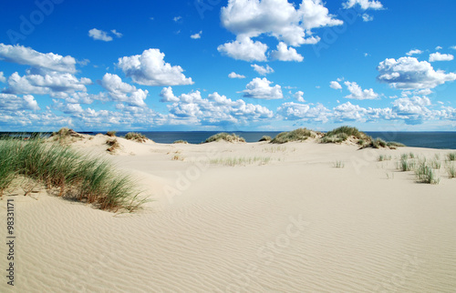
[[[456,2],[4,1],[0,131],[454,130]]]

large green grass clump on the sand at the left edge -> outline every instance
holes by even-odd
[[[60,197],[109,211],[133,211],[145,201],[130,177],[117,172],[108,161],[81,155],[70,147],[42,139],[5,140],[0,142],[0,154],[2,158],[7,154],[10,161],[0,159],[2,192],[11,178],[21,176],[57,190]]]

